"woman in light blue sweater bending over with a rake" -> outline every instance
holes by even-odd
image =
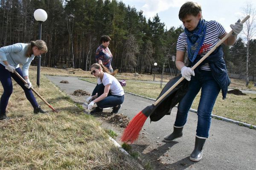
[[[35,100],[31,91],[32,84],[29,81],[29,65],[35,56],[47,52],[47,45],[43,40],[31,41],[30,43],[16,43],[0,48],[0,81],[3,85],[3,94],[0,99],[0,120],[8,120],[6,116],[6,107],[12,94],[12,79],[23,88],[26,98],[34,108],[34,113],[46,113],[41,109]],[[22,69],[20,65],[23,64]],[[17,71],[21,77],[24,77],[27,84],[14,73]]]

